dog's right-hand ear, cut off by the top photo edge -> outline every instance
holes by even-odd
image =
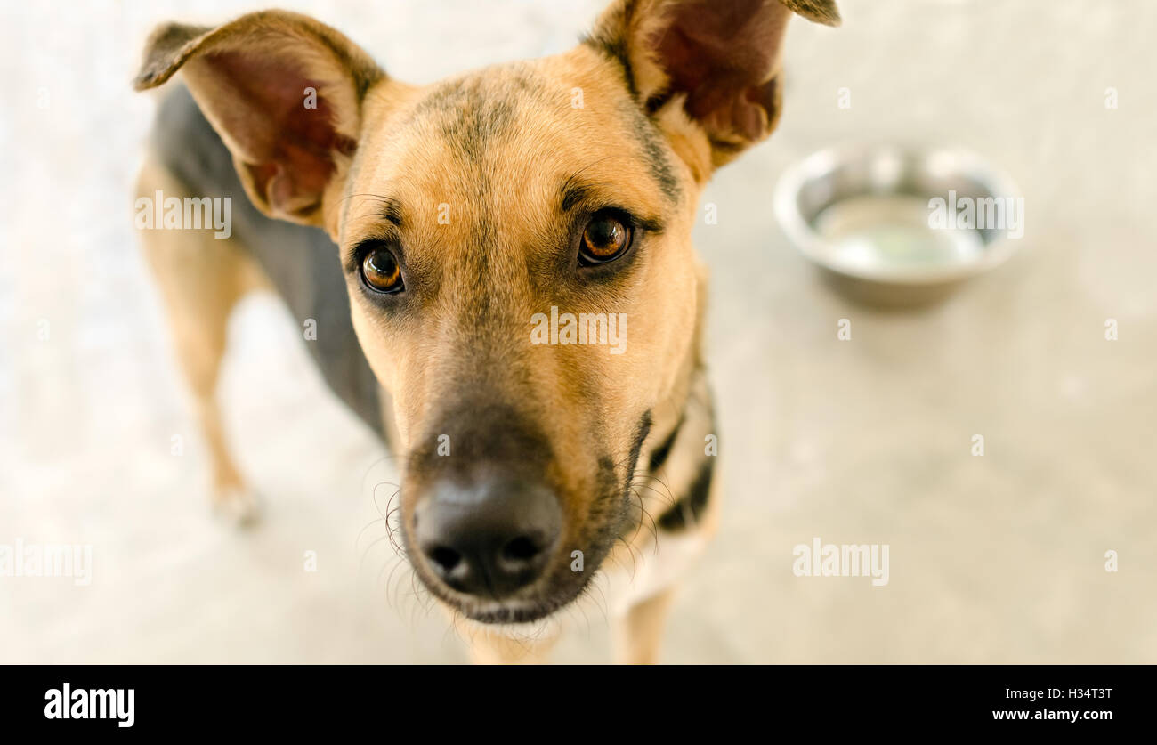
[[[834,0],[616,0],[588,43],[621,62],[701,182],[775,128],[793,12],[840,23]]]

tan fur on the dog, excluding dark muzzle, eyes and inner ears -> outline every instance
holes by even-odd
[[[813,20],[838,22],[827,0],[784,2]],[[673,5],[618,0],[600,17],[594,43],[423,88],[391,80],[344,36],[296,14],[251,14],[213,30],[169,24],[150,38],[137,79],[138,88],[150,88],[180,68],[229,146],[253,202],[266,214],[324,227],[344,258],[361,242],[395,229],[383,214],[384,197],[401,206],[406,272],[419,290],[413,302],[420,302],[422,287],[437,290],[436,300],[421,307],[420,320],[383,312],[356,274],[347,274],[358,339],[392,394],[389,425],[396,428],[398,450],[405,455],[429,448],[439,434],[432,426],[448,401],[482,378],[488,396],[532,413],[554,455],[544,478],[565,514],[566,531],[548,580],[568,578],[570,549],[588,546],[590,536],[605,528],[599,521],[609,518],[597,502],[600,458],[613,462],[618,482],[631,484],[632,455],[646,463],[657,441],[683,418],[700,366],[706,303],[706,272],[691,244],[699,193],[718,165],[767,135],[779,112],[775,98],[768,112],[757,112],[756,126],[736,128],[714,118],[693,119],[683,95],[646,111],[671,83],[648,44]],[[769,28],[778,43],[789,12],[774,2],[767,12],[774,14]],[[625,56],[626,67],[599,44]],[[244,96],[222,82],[209,64],[228,59],[214,54],[239,51],[294,59],[322,86],[338,143],[324,189],[294,192],[294,200],[286,201],[275,178],[263,180],[279,168],[271,158],[283,153],[263,140],[268,112],[246,108]],[[752,84],[778,73],[779,57],[773,54]],[[574,105],[575,91],[581,106]],[[356,152],[341,147],[342,138],[355,140]],[[644,253],[605,287],[567,285],[547,271],[548,246],[562,244],[569,229],[560,191],[575,182],[587,187],[591,209],[613,205],[661,226],[636,238]],[[140,191],[155,189],[182,192],[165,174],[146,167]],[[585,202],[580,208],[585,209]],[[447,209],[448,222],[440,220]],[[485,264],[479,264],[482,250]],[[204,234],[150,233],[146,252],[197,397],[218,490],[244,493],[224,445],[213,391],[229,310],[244,292],[263,283],[260,272],[231,242]],[[530,318],[548,312],[552,304],[575,314],[625,314],[627,352],[529,344]],[[467,360],[464,349],[474,357]],[[644,414],[651,436],[641,452],[632,453]],[[678,496],[673,492],[688,488],[695,463],[669,464],[663,473],[668,494],[639,489],[640,525],[644,516],[668,509]],[[427,478],[421,469],[405,474],[401,519],[407,530]],[[717,516],[718,500],[713,497],[706,514],[687,528],[693,539],[685,541],[687,552],[701,551]],[[618,544],[605,563],[624,567],[636,555],[661,559],[662,551],[662,540],[656,544],[653,534],[639,530]],[[429,580],[421,561],[414,561],[414,568]],[[616,621],[617,657],[625,662],[657,658],[673,585],[662,571],[649,576],[658,577],[658,584],[642,596],[628,592],[626,611]],[[464,621],[458,614],[481,607],[476,598],[448,591],[440,599],[455,608],[456,626],[480,662],[537,661],[553,643],[553,634],[525,640]]]

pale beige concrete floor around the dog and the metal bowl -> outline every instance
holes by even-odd
[[[206,455],[131,226],[152,101],[127,81],[155,22],[249,5],[182,5],[2,10],[0,544],[90,544],[94,575],[0,577],[0,662],[463,661],[384,540],[392,466],[271,298],[235,317],[221,391],[267,518],[239,534],[208,515]],[[288,5],[426,82],[560,51],[602,2]],[[794,24],[780,131],[705,196],[720,217],[697,243],[727,506],[664,659],[1155,663],[1157,8],[841,7],[839,30]],[[920,311],[834,294],[787,244],[771,193],[795,158],[861,140],[1000,163],[1026,198],[1020,255]],[[890,583],[794,576],[793,546],[813,537],[890,545]],[[606,659],[599,608],[570,617],[555,658]]]

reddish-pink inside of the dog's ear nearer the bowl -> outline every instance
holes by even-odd
[[[766,134],[776,101],[768,75],[789,17],[779,2],[764,0],[676,5],[654,49],[670,93],[687,95],[687,116],[716,135]]]

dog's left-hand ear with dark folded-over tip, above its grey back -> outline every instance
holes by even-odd
[[[356,150],[366,91],[384,76],[374,60],[308,16],[270,10],[215,29],[159,27],[134,87],[154,88],[178,69],[253,204],[333,235],[326,207]]]

